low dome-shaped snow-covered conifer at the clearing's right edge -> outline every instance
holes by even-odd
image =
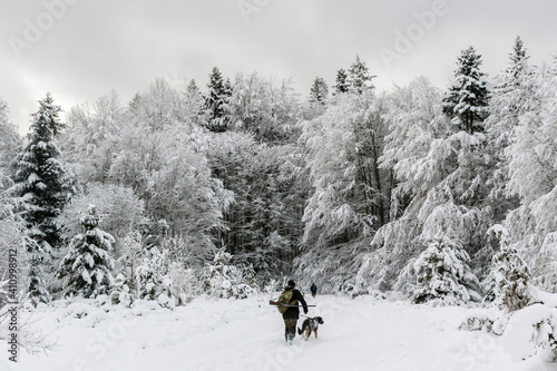
[[[444,237],[430,241],[414,263],[418,287],[412,301],[448,305],[479,301],[479,283],[468,266],[469,261],[459,243]]]

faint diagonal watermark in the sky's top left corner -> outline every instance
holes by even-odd
[[[79,0],[45,0],[45,11],[37,16],[35,22],[30,19],[23,21],[23,37],[10,36],[8,42],[17,58],[21,58],[21,51],[30,49],[42,39],[45,32],[50,30],[57,20],[66,16],[68,6],[74,6]]]

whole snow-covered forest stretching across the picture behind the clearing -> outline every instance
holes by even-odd
[[[534,66],[517,38],[505,70],[481,64],[469,47],[448,88],[378,91],[355,57],[304,95],[215,67],[206,89],[156,79],[63,123],[47,94],[25,138],[0,100],[1,295],[174,307],[294,277],[518,309],[528,283],[555,292],[557,59]]]

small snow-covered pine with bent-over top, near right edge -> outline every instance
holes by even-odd
[[[500,310],[514,312],[530,302],[528,282],[530,273],[515,247],[510,245],[508,231],[500,224],[490,230],[499,240],[500,251],[491,260],[490,281],[495,292],[495,302]]]

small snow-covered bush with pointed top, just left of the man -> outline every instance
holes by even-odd
[[[213,264],[205,264],[203,270],[203,292],[214,297],[246,299],[257,292],[253,282],[253,272],[245,273],[245,270],[231,264],[232,254],[225,248],[218,250]],[[253,270],[252,270],[253,271]],[[250,280],[250,276],[252,279]]]

